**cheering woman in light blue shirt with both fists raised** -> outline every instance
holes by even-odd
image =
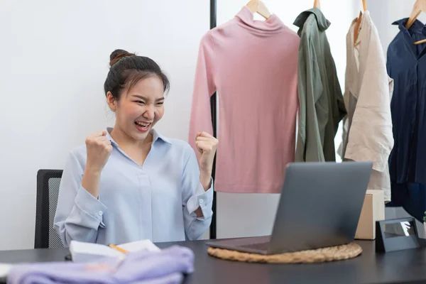
[[[199,239],[212,218],[217,139],[188,143],[153,127],[164,114],[169,81],[150,58],[115,50],[104,84],[114,129],[71,151],[60,184],[55,229],[62,244]]]

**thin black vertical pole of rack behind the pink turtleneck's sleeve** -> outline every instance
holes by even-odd
[[[216,28],[217,26],[217,3],[216,0],[210,0],[210,29]],[[213,136],[217,137],[216,129],[216,92],[210,97],[210,111],[212,112],[212,126],[213,126]],[[214,180],[214,175],[216,173],[216,155],[214,156],[213,168],[212,168],[212,178]],[[212,203],[212,224],[210,225],[210,239],[216,239],[216,192],[213,192],[213,203]]]

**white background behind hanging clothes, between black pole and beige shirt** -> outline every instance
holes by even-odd
[[[233,18],[247,0],[217,0],[217,21],[222,24]],[[314,1],[264,0],[271,13],[276,13],[286,26],[297,31],[293,25],[295,18],[306,9],[312,8]],[[360,2],[360,3],[359,3]],[[346,68],[346,33],[351,21],[358,16],[361,1],[323,0],[321,11],[332,23],[327,36],[337,65],[337,74],[344,90]],[[256,15],[261,20],[261,16]],[[336,138],[336,145],[342,141],[342,133]],[[217,192],[217,237],[261,236],[271,234],[278,194],[232,194]]]

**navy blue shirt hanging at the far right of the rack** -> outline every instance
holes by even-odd
[[[415,21],[409,30],[408,18],[395,21],[400,32],[388,47],[387,68],[394,80],[391,113],[393,151],[389,157],[391,182],[426,184],[426,38],[425,25]]]

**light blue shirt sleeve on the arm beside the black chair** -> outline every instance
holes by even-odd
[[[81,162],[71,152],[60,182],[54,228],[66,247],[72,240],[96,242],[99,226],[105,227],[102,217],[107,207],[82,187]]]

